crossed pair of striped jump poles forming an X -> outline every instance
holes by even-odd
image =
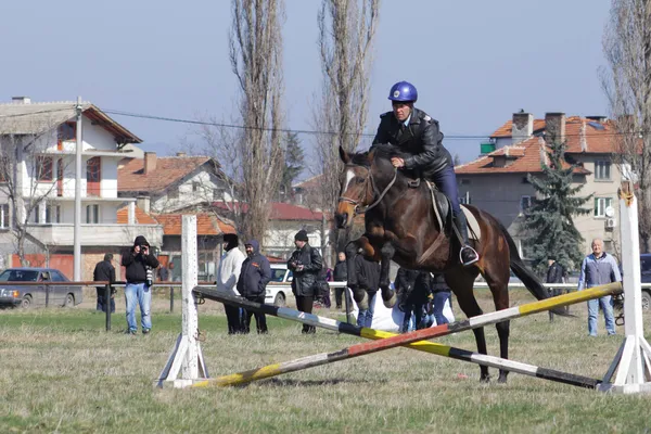
[[[215,299],[218,302],[244,308],[257,309],[259,311],[264,311],[265,314],[278,316],[280,318],[295,320],[308,323],[310,326],[322,327],[342,333],[354,334],[361,337],[368,337],[379,341],[356,344],[335,353],[322,353],[314,356],[303,357],[296,360],[269,365],[258,369],[219,376],[216,379],[208,379],[195,382],[193,386],[229,386],[244,384],[256,380],[276,376],[282,373],[294,372],[315,366],[327,365],[339,360],[359,357],[366,354],[390,349],[396,346],[409,346],[414,349],[437,354],[444,357],[475,362],[488,367],[501,368],[525,375],[537,376],[565,384],[572,384],[587,388],[596,388],[601,383],[601,381],[596,379],[589,379],[582,375],[574,375],[561,371],[538,368],[533,365],[501,359],[499,357],[481,355],[460,348],[454,348],[442,344],[435,344],[432,342],[423,342],[423,340],[458,333],[461,331],[471,330],[478,327],[484,327],[487,324],[501,322],[509,319],[536,314],[539,311],[549,310],[554,307],[567,306],[571,304],[602,297],[604,295],[611,295],[621,292],[621,288],[622,285],[618,282],[610,283],[602,286],[595,286],[589,290],[580,291],[577,293],[564,294],[553,298],[534,302],[519,307],[512,307],[509,309],[498,310],[496,312],[481,315],[469,320],[458,321],[450,324],[436,326],[430,329],[417,330],[414,332],[405,334],[395,334],[388,332],[381,332],[373,329],[359,328],[357,326],[342,323],[329,318],[320,318],[315,315],[298,312],[293,309],[277,308],[273,306],[260,305],[248,301],[242,301],[241,298],[228,296],[214,290],[195,289],[195,293],[197,293],[201,296],[204,296],[205,298]]]

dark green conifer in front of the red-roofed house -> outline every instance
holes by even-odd
[[[576,269],[583,260],[582,234],[574,226],[573,217],[591,213],[582,207],[592,194],[576,196],[583,186],[573,187],[573,170],[576,165],[566,165],[565,143],[552,137],[546,149],[548,162],[541,163],[542,177],[528,175],[528,181],[536,190],[537,199],[525,213],[524,227],[532,244],[531,258],[536,271],[547,270],[550,257],[567,269]]]

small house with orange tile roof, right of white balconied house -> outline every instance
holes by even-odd
[[[219,163],[208,156],[125,158],[118,167],[118,196],[142,197],[145,210],[175,213],[205,202],[230,201]]]

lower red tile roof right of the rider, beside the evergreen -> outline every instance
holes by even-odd
[[[455,166],[455,173],[457,175],[540,173],[542,171],[540,165],[541,158],[546,157],[542,150],[547,150],[545,140],[539,137],[533,137],[515,145],[500,148],[474,162]],[[495,157],[503,157],[507,164],[496,166]],[[563,167],[570,167],[570,165],[563,163]],[[590,174],[589,170],[582,167],[576,167],[574,173]]]

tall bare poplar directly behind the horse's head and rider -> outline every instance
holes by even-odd
[[[339,195],[340,144],[355,151],[367,124],[372,42],[380,0],[322,0],[317,17],[323,82],[312,113],[317,136],[321,210],[332,214]]]

